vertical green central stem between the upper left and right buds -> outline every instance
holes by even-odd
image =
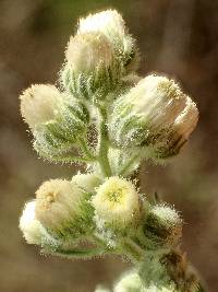
[[[99,135],[98,135],[98,163],[105,176],[111,176],[111,167],[108,160],[108,129],[107,113],[104,107],[98,106],[100,115]]]

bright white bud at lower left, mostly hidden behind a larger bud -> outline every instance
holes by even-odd
[[[35,201],[26,203],[20,218],[20,229],[28,244],[41,244],[41,223],[35,218]]]

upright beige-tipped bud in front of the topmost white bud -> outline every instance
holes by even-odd
[[[104,34],[92,32],[71,37],[65,57],[61,81],[74,96],[100,100],[119,85],[121,67]]]

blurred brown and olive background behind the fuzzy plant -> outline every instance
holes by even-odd
[[[218,291],[218,1],[0,0],[0,291],[86,292],[112,283],[129,266],[119,258],[68,261],[44,257],[17,229],[24,202],[48,178],[72,166],[38,160],[19,113],[19,94],[53,83],[76,20],[116,8],[142,52],[141,74],[177,78],[198,104],[197,130],[170,165],[141,168],[143,190],[182,211],[183,249],[209,291]]]

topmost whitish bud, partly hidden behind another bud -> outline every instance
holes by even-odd
[[[128,33],[122,16],[116,10],[106,10],[81,19],[80,33],[97,32],[104,34],[114,48],[126,72],[135,71],[138,65],[138,52],[135,40]]]

